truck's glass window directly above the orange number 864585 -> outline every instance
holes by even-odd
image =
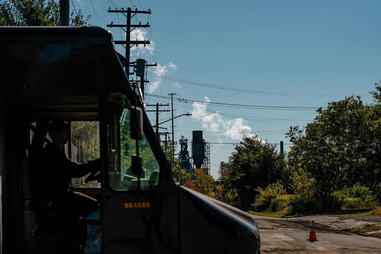
[[[113,93],[107,99],[107,135],[109,186],[114,190],[138,189],[138,176],[133,174],[131,161],[136,155],[136,141],[130,137],[131,103],[123,93]],[[146,135],[138,140],[142,157],[141,190],[154,189],[158,182],[159,166]]]

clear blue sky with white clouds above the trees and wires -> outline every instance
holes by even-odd
[[[315,116],[312,109],[274,107],[325,107],[344,94],[371,102],[367,93],[381,79],[381,1],[73,0],[70,9],[73,3],[91,14],[91,25],[102,27],[126,22],[122,14],[107,13],[109,7],[152,11],[131,21],[151,25],[131,33],[131,40],[153,43],[133,46],[130,61],[158,64],[148,69],[146,104],[167,104],[170,93],[187,100],[174,102],[174,116],[193,113],[176,118],[175,139],[191,141],[192,131],[202,130],[215,179],[219,163],[234,151],[227,143],[257,134],[289,144],[287,129]],[[106,29],[115,40],[125,36],[119,28]],[[122,46],[118,52],[125,54]],[[155,114],[147,113],[154,125]],[[162,112],[159,121],[170,117]],[[170,131],[171,122],[161,126]]]

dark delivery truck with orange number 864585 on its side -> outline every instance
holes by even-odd
[[[72,190],[99,201],[101,253],[259,253],[250,215],[174,180],[109,31],[0,27],[0,48],[2,253],[56,253],[54,233],[31,236],[33,161],[54,120],[70,125],[69,158],[100,158]]]

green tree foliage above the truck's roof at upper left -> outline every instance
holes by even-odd
[[[81,10],[70,13],[71,26],[83,26]],[[0,3],[0,26],[59,26],[59,4],[54,0],[6,0]]]

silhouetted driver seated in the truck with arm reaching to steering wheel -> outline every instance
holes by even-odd
[[[97,211],[99,203],[90,196],[70,191],[72,177],[100,171],[100,161],[78,163],[66,156],[62,147],[69,141],[69,129],[64,121],[53,121],[48,126],[52,144],[47,144],[41,152],[35,201],[40,208],[51,205],[60,216],[76,220]]]

